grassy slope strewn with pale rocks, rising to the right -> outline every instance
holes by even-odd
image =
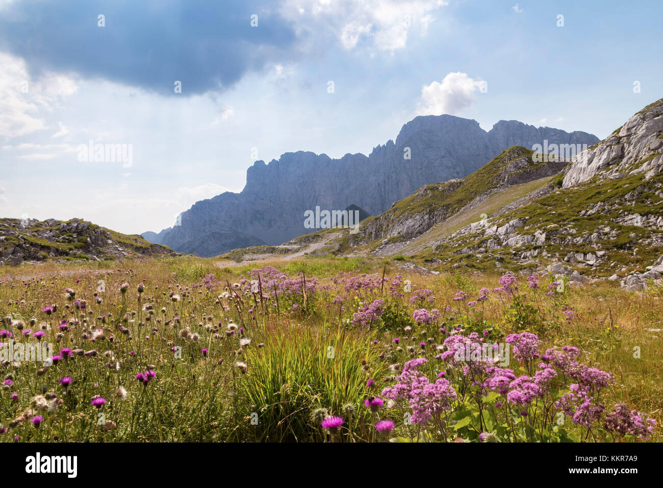
[[[663,278],[662,170],[663,99],[570,161],[512,146],[467,177],[423,185],[353,232],[320,230],[278,252],[552,272],[570,284],[619,280],[638,290]]]

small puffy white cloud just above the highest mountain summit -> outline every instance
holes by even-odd
[[[434,81],[430,85],[424,85],[416,114],[457,115],[474,102],[475,93],[481,89],[483,83],[481,80],[473,80],[465,73],[449,73],[442,83]]]

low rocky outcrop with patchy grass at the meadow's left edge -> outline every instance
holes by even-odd
[[[0,219],[0,265],[24,261],[99,261],[136,256],[177,254],[141,236],[126,236],[80,218]]]

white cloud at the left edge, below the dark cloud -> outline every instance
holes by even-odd
[[[46,128],[42,116],[78,87],[62,74],[31,80],[25,61],[0,52],[0,136],[20,137]]]

